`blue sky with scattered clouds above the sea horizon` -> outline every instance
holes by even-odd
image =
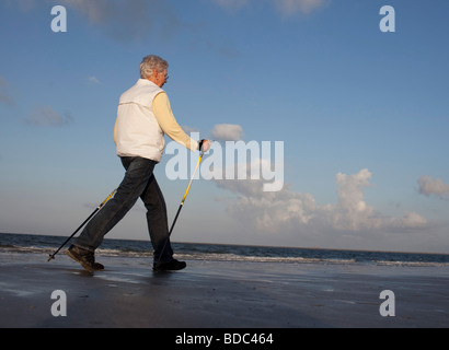
[[[50,28],[56,4],[66,33]],[[379,28],[385,4],[394,33]],[[0,232],[70,235],[119,184],[117,101],[156,54],[186,130],[284,142],[281,191],[199,179],[174,241],[449,253],[447,13],[444,0],[3,0]],[[166,178],[170,156],[156,174],[171,221],[187,180]],[[143,207],[107,237],[148,240]]]

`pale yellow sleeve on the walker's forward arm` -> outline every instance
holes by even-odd
[[[198,149],[198,142],[184,132],[173,116],[166,93],[162,92],[154,97],[152,109],[159,126],[169,138],[185,145],[191,151]]]

